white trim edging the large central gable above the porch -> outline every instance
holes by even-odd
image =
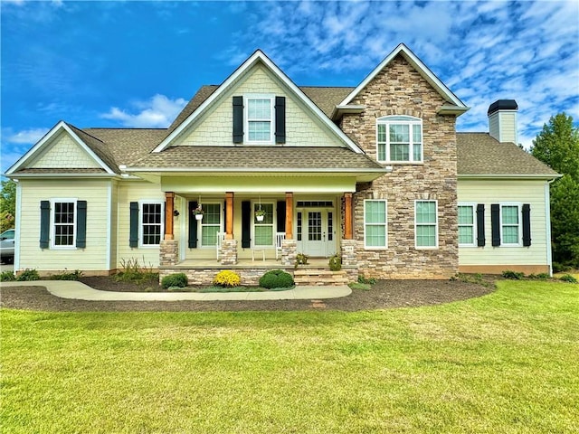
[[[259,69],[265,71],[272,80],[277,81],[280,84],[280,87],[286,90],[286,95],[290,96],[292,100],[298,103],[304,111],[307,111],[308,115],[310,115],[312,119],[315,119],[315,122],[318,123],[320,127],[325,128],[328,134],[336,137],[338,142],[344,144],[344,146],[349,147],[353,151],[357,153],[362,152],[356,143],[347,137],[346,134],[336,126],[336,124],[327,118],[326,114],[319,109],[318,106],[293,83],[293,81],[289,80],[288,76],[286,76],[285,73],[283,73],[260,50],[254,52],[247,61],[244,61],[237,70],[233,71],[233,74],[223,81],[223,84],[219,86],[219,88],[213,90],[208,87],[205,89],[206,93],[210,94],[203,100],[203,102],[198,104],[199,100],[195,100],[195,96],[187,106],[189,106],[189,109],[192,109],[193,107],[191,106],[198,104],[197,107],[186,116],[186,118],[185,116],[179,115],[179,117],[184,118],[183,121],[178,126],[172,126],[173,130],[170,131],[167,137],[153,150],[153,152],[161,152],[166,149],[166,147],[174,145],[176,138],[182,135],[185,130],[191,127],[199,118],[202,118],[215,103],[219,102],[220,99],[223,99],[224,96],[231,95],[233,90],[240,86],[249,76],[252,75],[252,73]],[[202,90],[204,90],[204,88],[202,88]],[[203,95],[201,97],[203,97]]]

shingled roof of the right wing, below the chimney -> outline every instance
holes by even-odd
[[[514,143],[500,143],[489,133],[456,136],[459,175],[557,175]]]

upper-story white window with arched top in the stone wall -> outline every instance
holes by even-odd
[[[387,116],[376,124],[378,161],[422,162],[422,119],[411,116]]]

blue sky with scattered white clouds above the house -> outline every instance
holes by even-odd
[[[167,127],[204,84],[261,48],[298,85],[356,86],[404,42],[488,131],[516,99],[530,146],[556,113],[579,125],[579,2],[1,0],[2,173],[59,120]]]

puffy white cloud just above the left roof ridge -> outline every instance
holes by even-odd
[[[168,99],[157,94],[146,101],[133,102],[137,113],[113,107],[108,113],[101,114],[100,118],[117,120],[123,127],[165,128],[171,125],[186,103],[182,98]]]

